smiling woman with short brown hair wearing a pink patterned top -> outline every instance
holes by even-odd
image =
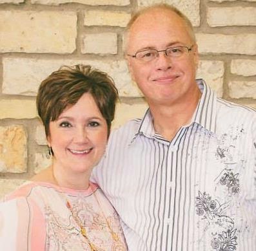
[[[37,111],[52,165],[0,205],[1,250],[126,250],[117,213],[97,185],[115,112],[113,80],[90,66],[43,80]]]

